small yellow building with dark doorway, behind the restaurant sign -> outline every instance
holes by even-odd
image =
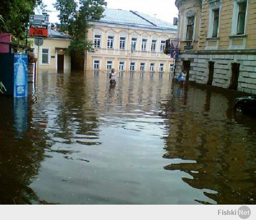
[[[44,39],[43,45],[39,47],[39,54],[35,44],[31,47],[35,57],[38,57],[39,72],[40,70],[70,71],[70,56],[65,50],[69,47],[71,38],[51,29],[48,30],[48,34],[49,38]],[[29,40],[34,42],[34,39]]]

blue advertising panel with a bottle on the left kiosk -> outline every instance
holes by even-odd
[[[28,55],[14,54],[14,97],[28,96]]]

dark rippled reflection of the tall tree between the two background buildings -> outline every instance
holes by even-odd
[[[93,88],[98,88],[98,82],[93,83]],[[68,80],[63,87],[57,106],[57,129],[51,131],[54,137],[65,139],[63,143],[100,144],[92,141],[98,139],[98,113],[92,105],[92,102],[97,105],[97,97],[91,91],[93,88],[84,82],[83,75]]]

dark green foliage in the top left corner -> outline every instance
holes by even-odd
[[[1,1],[0,33],[11,33],[17,41],[25,40],[29,15],[39,5],[43,6],[42,0]]]

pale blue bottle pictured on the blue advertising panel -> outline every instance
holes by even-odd
[[[22,57],[19,57],[17,60],[17,72],[16,72],[16,92],[17,96],[24,96],[25,95],[25,69]]]

